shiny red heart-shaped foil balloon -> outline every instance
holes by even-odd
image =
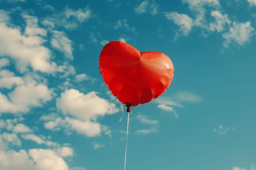
[[[131,106],[151,102],[163,94],[174,76],[174,66],[167,55],[140,52],[122,41],[112,41],[103,47],[99,69],[113,95]]]

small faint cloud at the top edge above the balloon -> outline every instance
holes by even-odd
[[[135,8],[135,13],[150,13],[152,15],[156,15],[158,13],[158,4],[154,0],[144,0],[142,1],[137,8]]]

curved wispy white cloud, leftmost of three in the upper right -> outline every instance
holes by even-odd
[[[192,25],[193,19],[186,14],[178,14],[177,12],[164,13],[165,17],[169,20],[173,20],[175,24],[179,26],[179,31],[184,35],[188,35]]]

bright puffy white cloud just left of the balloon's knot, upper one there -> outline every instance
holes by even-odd
[[[75,89],[61,93],[56,100],[56,106],[63,114],[73,115],[82,120],[96,119],[98,116],[118,111],[114,103],[98,97],[95,91],[83,94]]]

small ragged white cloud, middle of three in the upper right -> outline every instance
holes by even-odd
[[[221,32],[225,29],[226,24],[230,24],[231,21],[228,18],[228,15],[222,15],[219,11],[212,11],[211,16],[215,18],[215,22],[210,23],[210,31]]]

